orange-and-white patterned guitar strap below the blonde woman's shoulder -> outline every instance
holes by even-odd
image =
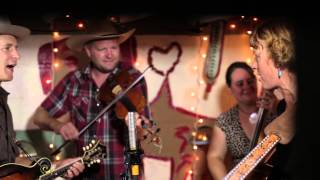
[[[250,172],[262,161],[267,155],[274,152],[275,146],[280,141],[277,134],[267,135],[252,151],[249,152],[223,179],[238,180],[245,179]]]

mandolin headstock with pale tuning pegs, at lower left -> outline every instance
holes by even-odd
[[[95,163],[100,163],[101,159],[104,159],[106,156],[106,147],[100,143],[100,140],[92,140],[82,149],[84,151],[82,160],[88,167]]]

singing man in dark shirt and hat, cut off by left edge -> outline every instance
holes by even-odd
[[[30,35],[29,29],[22,26],[12,25],[7,19],[0,17],[0,167],[5,167],[7,163],[26,162],[18,161],[21,159],[17,158],[19,149],[15,141],[12,115],[7,104],[7,97],[9,93],[1,87],[1,83],[11,81],[13,79],[13,71],[20,58],[20,54],[18,52],[18,41],[28,35]],[[62,166],[72,160],[73,159],[61,161],[58,164]],[[68,170],[65,177],[71,178],[78,175],[83,171],[83,169],[83,164],[80,162],[74,163]],[[0,168],[0,171],[1,179],[7,176],[6,173],[8,171],[11,172],[11,169]]]

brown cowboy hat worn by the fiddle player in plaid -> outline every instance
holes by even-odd
[[[127,32],[119,33],[111,22],[95,24],[91,28],[94,28],[94,30],[91,32],[88,30],[85,35],[71,36],[66,42],[67,46],[74,51],[81,52],[88,42],[118,38],[119,42],[123,43],[135,32],[135,29],[131,29]]]

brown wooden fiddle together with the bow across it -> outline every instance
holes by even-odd
[[[143,74],[150,69],[150,66],[144,70],[144,72],[136,79],[134,79],[129,73],[128,69],[120,71],[118,68],[115,68],[114,71],[110,74],[112,78],[108,78],[101,86],[100,93],[97,96],[97,99],[102,102],[103,105],[106,105],[99,114],[90,121],[85,127],[79,131],[79,136],[81,136],[89,127],[91,127],[107,110],[112,106],[116,106],[115,112],[116,116],[119,119],[125,119],[129,111],[138,112],[139,114],[143,112],[144,107],[146,106],[146,99],[142,94],[142,91],[139,91],[135,86],[142,78]],[[134,81],[133,81],[134,80]],[[122,89],[124,89],[122,91]],[[130,91],[129,91],[130,90]],[[102,92],[102,93],[101,93]],[[143,116],[141,116],[143,117]],[[150,120],[149,120],[150,121]],[[142,121],[143,122],[143,121]],[[151,127],[147,127],[142,124],[144,129],[147,129],[147,134],[144,136],[144,139],[148,135],[152,135],[151,141],[156,145],[160,143],[160,137],[156,135],[160,131],[160,128],[153,130],[155,127],[154,121],[151,121]],[[58,147],[51,155],[56,155],[60,152],[60,149],[67,145],[70,140],[65,141],[60,147]]]

